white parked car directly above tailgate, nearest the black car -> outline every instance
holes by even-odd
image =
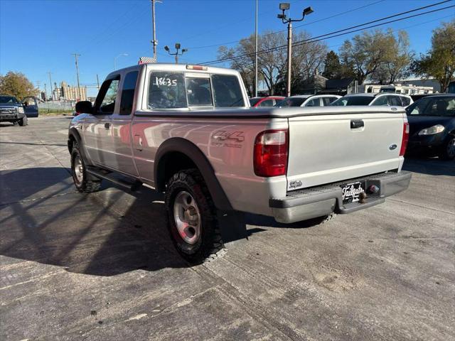
[[[407,107],[412,103],[414,103],[414,101],[406,94],[380,92],[378,94],[346,94],[346,96],[337,99],[330,105],[387,105],[389,107]]]

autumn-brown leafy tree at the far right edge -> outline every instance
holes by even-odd
[[[414,75],[434,77],[441,85],[441,92],[446,92],[455,76],[455,20],[442,23],[433,31],[432,49],[414,60],[411,70]]]

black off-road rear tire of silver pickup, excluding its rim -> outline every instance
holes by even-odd
[[[179,193],[186,191],[196,201],[200,210],[200,237],[194,244],[188,244],[178,233],[174,219],[174,202]],[[181,256],[192,264],[210,261],[223,254],[224,246],[216,208],[205,181],[196,169],[186,169],[174,174],[166,185],[164,196],[166,223],[174,246]]]

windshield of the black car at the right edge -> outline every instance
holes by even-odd
[[[455,116],[455,96],[425,97],[419,99],[406,110],[408,115]]]

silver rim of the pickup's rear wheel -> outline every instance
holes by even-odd
[[[195,244],[200,238],[200,211],[194,197],[181,191],[173,203],[173,217],[180,237],[188,244]]]

